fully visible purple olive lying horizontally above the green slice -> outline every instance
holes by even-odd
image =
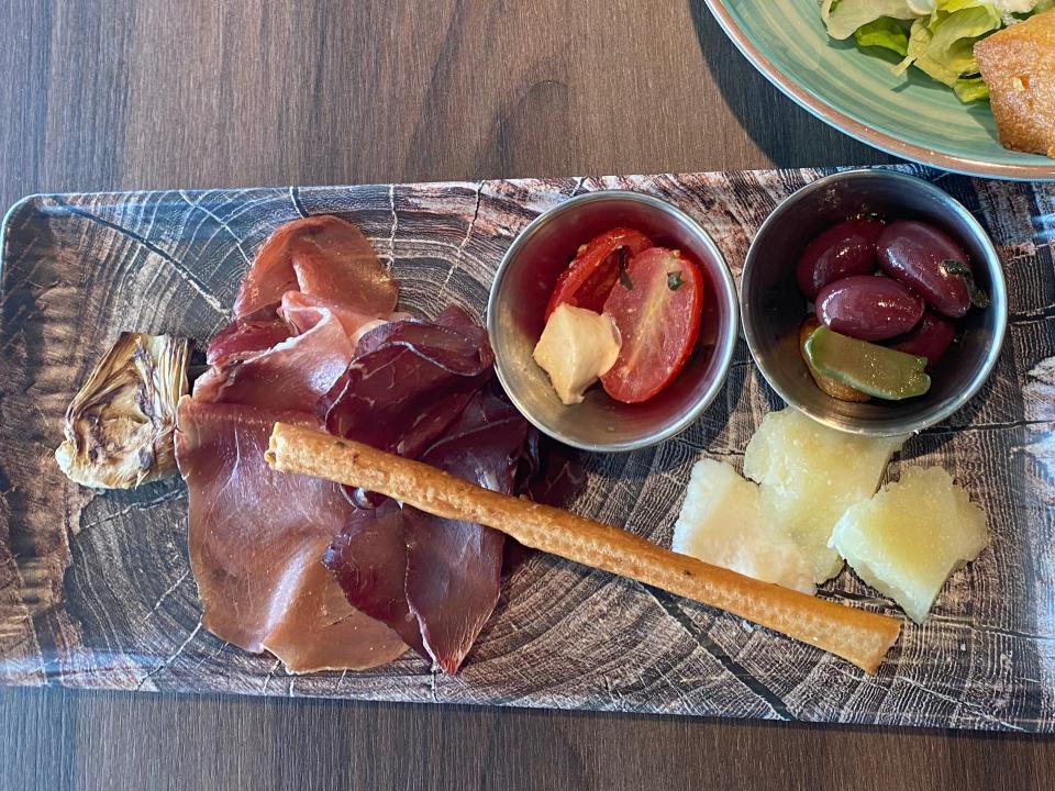
[[[836,280],[817,296],[817,317],[858,341],[886,341],[907,333],[923,315],[923,300],[885,277],[855,275]]]

